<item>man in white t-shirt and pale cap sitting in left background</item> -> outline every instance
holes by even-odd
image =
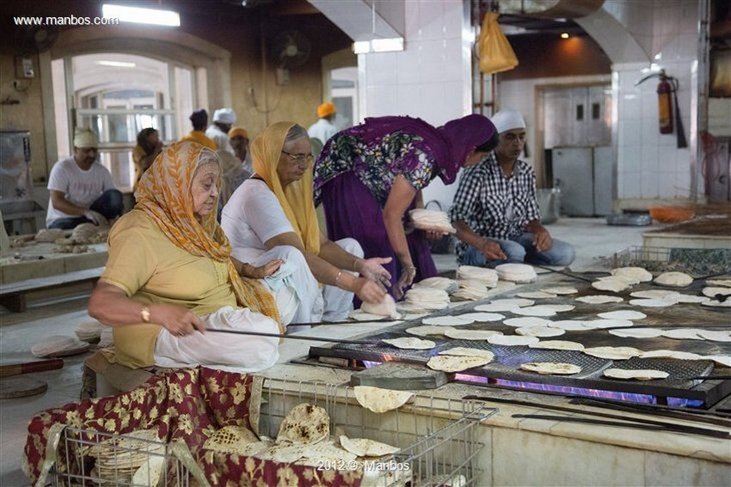
[[[99,139],[90,129],[77,128],[74,155],[53,164],[48,177],[49,229],[73,229],[81,223],[106,225],[122,214],[122,193],[99,157]]]

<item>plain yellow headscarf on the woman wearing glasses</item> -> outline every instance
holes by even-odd
[[[295,233],[302,239],[304,248],[317,255],[320,233],[312,194],[313,168],[308,167],[302,179],[290,183],[286,191],[282,189],[276,172],[287,132],[295,125],[297,124],[294,122],[277,122],[262,131],[254,142],[251,142],[251,165],[279,200],[284,215],[287,215]]]

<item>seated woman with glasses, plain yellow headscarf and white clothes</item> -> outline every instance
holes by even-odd
[[[232,194],[221,214],[233,255],[252,265],[272,258],[294,261],[300,275],[314,276],[309,282],[302,277],[304,285],[295,286],[300,294],[298,323],[346,318],[353,294],[365,302],[382,302],[384,284],[390,283],[382,264],[390,258],[363,259],[355,239],[332,242],[319,229],[306,129],[292,122],[274,123],[251,143],[251,156],[254,175]],[[315,280],[322,289],[312,285]]]

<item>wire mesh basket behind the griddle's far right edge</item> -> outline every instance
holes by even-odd
[[[610,268],[640,266],[650,272],[686,272],[695,277],[720,275],[731,272],[731,249],[635,246],[615,253],[605,264]]]

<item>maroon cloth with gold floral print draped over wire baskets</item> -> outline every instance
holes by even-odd
[[[253,375],[182,369],[156,375],[118,396],[42,411],[28,426],[23,472],[31,483],[39,480],[51,433],[66,425],[115,434],[156,429],[164,441],[188,445],[211,486],[360,486],[358,471],[318,470],[202,448],[224,426],[246,427],[258,434],[262,383],[262,377]],[[69,452],[57,455],[56,471],[79,472],[80,465],[65,464],[75,455],[64,453]]]

